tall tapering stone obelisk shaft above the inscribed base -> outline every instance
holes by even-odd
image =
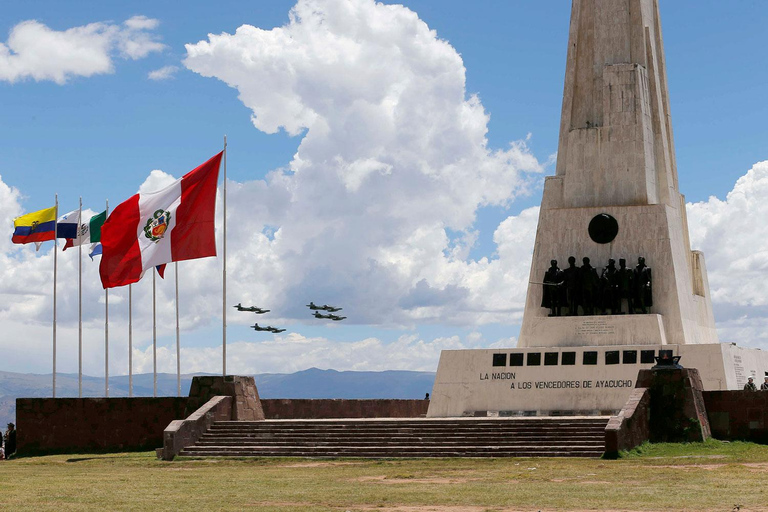
[[[571,256],[598,272],[609,259],[634,267],[645,258],[651,314],[612,314],[599,330],[548,317],[533,283],[550,260],[565,267]],[[691,251],[677,185],[657,0],[573,2],[557,175],[544,185],[530,282],[520,347],[717,343],[704,258]]]

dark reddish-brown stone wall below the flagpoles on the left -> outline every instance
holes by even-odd
[[[154,450],[187,398],[18,398],[17,453]]]

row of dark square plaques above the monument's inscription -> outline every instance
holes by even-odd
[[[655,363],[655,350],[640,350],[640,364]],[[598,364],[599,353],[595,350],[587,350],[582,353],[581,364],[584,366],[595,366]],[[637,350],[606,350],[604,352],[605,364],[637,364]],[[544,352],[544,366],[575,366],[576,352]],[[541,352],[493,354],[493,366],[541,366]]]

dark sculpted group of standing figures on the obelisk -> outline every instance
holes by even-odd
[[[653,306],[651,269],[645,265],[645,258],[637,259],[634,269],[627,268],[625,259],[608,260],[608,266],[598,275],[590,265],[589,258],[582,259],[582,266],[576,266],[576,258],[568,258],[568,268],[560,270],[557,260],[550,262],[544,274],[544,297],[541,307],[549,308],[549,316],[581,314],[623,315],[622,304],[627,303],[627,313],[648,313]]]

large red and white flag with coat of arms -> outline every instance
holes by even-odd
[[[120,203],[101,228],[104,288],[135,283],[171,261],[216,256],[216,184],[223,151],[168,187]]]

